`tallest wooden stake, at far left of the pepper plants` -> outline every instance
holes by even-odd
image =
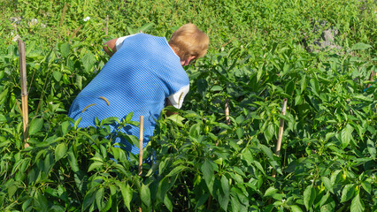
[[[25,55],[25,42],[19,40],[19,73],[21,81],[21,101],[22,101],[22,117],[24,124],[24,147],[29,147],[27,140],[27,131],[29,125],[29,116],[27,110],[27,57]]]

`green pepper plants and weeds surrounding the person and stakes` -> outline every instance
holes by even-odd
[[[375,1],[12,0],[0,10],[2,211],[377,209]],[[67,110],[109,59],[104,42],[140,30],[169,38],[188,22],[210,49],[187,67],[183,110],[163,111],[144,150],[156,161],[140,177],[137,155],[128,160],[107,137],[114,121],[138,125],[132,114],[78,129]],[[328,29],[338,49],[316,45]],[[17,35],[27,47],[29,148]]]

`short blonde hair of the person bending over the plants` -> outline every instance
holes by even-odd
[[[204,57],[207,53],[210,39],[193,24],[185,24],[177,29],[169,41],[175,53],[186,60],[188,57]]]

